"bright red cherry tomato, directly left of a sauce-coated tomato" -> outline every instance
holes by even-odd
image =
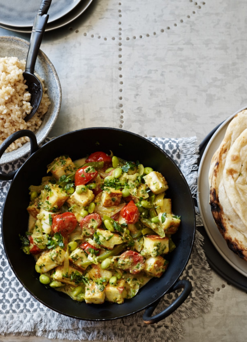
[[[52,220],[52,230],[54,233],[61,233],[63,237],[69,235],[77,225],[74,213],[65,212],[54,216]]]

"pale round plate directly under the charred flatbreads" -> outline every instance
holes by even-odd
[[[241,110],[246,109],[246,107]],[[222,125],[217,129],[212,138],[209,140],[198,170],[198,194],[197,201],[200,214],[202,216],[203,225],[205,230],[212,241],[214,247],[220,253],[220,255],[233,267],[236,271],[240,272],[247,277],[247,262],[239,258],[235,253],[233,253],[227,246],[226,240],[220,234],[216,223],[214,221],[213,215],[211,213],[209,205],[209,184],[208,184],[208,172],[211,159],[219,147],[221,141],[224,138],[226,129],[229,122],[233,117],[239,113],[238,110],[232,116],[230,116]]]

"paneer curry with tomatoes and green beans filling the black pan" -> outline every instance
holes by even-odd
[[[40,282],[76,301],[121,304],[168,267],[180,216],[164,176],[104,152],[47,166],[31,185],[22,249]]]

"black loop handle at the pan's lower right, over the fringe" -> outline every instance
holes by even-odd
[[[144,323],[146,323],[146,324],[157,323],[161,319],[164,319],[165,317],[169,316],[181,304],[183,304],[184,301],[186,300],[186,298],[188,297],[188,295],[190,294],[191,289],[192,289],[192,285],[191,285],[191,282],[189,280],[178,280],[176,282],[176,284],[167,293],[173,292],[173,291],[175,291],[177,289],[181,289],[181,288],[183,288],[184,290],[183,290],[183,292],[180,293],[178,298],[176,298],[175,301],[171,305],[166,307],[159,314],[151,317],[152,313],[155,311],[156,306],[159,304],[160,299],[158,301],[156,301],[153,305],[149,306],[143,314]]]

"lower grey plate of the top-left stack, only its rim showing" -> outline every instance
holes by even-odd
[[[63,15],[61,18],[54,20],[52,22],[50,22],[49,20],[46,25],[45,31],[51,31],[51,30],[60,28],[64,25],[71,23],[73,20],[78,18],[88,8],[88,6],[91,4],[92,1],[93,0],[82,0],[77,4],[77,6],[73,10],[71,10],[66,15]],[[50,13],[50,9],[48,11],[48,14],[49,13]],[[34,17],[35,15],[33,16],[33,19]],[[0,27],[5,28],[7,30],[15,31],[15,32],[22,32],[22,33],[32,32],[32,26],[23,26],[23,27],[11,26],[11,25],[6,25],[2,23],[1,20],[0,20]]]

